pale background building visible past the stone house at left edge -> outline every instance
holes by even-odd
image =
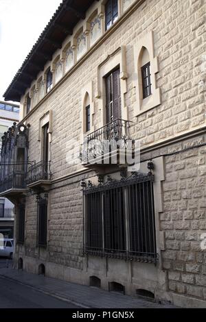
[[[14,122],[19,122],[19,106],[0,101],[0,151],[1,138]],[[14,204],[3,197],[0,197],[0,234],[8,238],[14,236]]]

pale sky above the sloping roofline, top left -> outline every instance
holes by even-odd
[[[62,0],[0,0],[0,100]]]

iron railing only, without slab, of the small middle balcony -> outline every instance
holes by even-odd
[[[26,184],[34,184],[38,181],[50,180],[52,173],[50,171],[50,162],[41,161],[32,164],[27,171]]]

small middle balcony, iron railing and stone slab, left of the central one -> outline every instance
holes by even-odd
[[[33,163],[27,170],[26,184],[27,188],[38,190],[48,188],[51,184],[52,173],[51,173],[51,162],[41,161]]]

